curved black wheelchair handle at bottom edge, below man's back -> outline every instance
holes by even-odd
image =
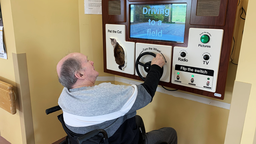
[[[85,142],[86,140],[88,140],[92,137],[95,137],[99,133],[103,134],[103,137],[105,140],[108,139],[107,132],[104,129],[95,129],[95,130],[92,130],[91,132],[81,135],[80,137],[78,137],[76,139],[76,141],[78,142],[78,144],[82,144],[82,142]]]

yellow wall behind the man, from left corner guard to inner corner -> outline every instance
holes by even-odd
[[[66,135],[57,119],[61,112],[45,110],[58,105],[63,89],[57,63],[69,50],[80,52],[78,1],[11,0],[11,6],[16,52],[27,55],[35,142],[53,143]]]

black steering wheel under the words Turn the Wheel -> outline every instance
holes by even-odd
[[[145,78],[143,78],[143,76],[140,74],[139,72],[139,69],[138,69],[138,65],[141,65],[144,67],[144,70],[146,71],[146,73],[149,72],[150,70],[150,66],[151,66],[151,61],[150,62],[146,62],[145,64],[143,64],[142,62],[140,62],[140,58],[142,58],[144,55],[152,55],[153,57],[156,57],[156,54],[154,53],[151,53],[151,52],[145,52],[145,53],[142,53],[139,55],[139,57],[137,58],[136,60],[136,63],[135,63],[135,68],[136,68],[136,72],[137,74],[139,75],[139,77],[145,81]],[[162,77],[162,74],[164,73],[164,67],[162,67],[162,70],[161,70],[161,77]]]

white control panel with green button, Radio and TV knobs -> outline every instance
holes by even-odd
[[[172,84],[216,91],[223,32],[190,28],[188,47],[174,47]]]

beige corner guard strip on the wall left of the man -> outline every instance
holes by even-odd
[[[22,144],[35,144],[26,53],[12,53],[19,102]]]

